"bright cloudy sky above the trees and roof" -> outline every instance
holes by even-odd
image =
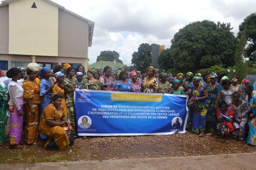
[[[231,22],[236,36],[239,24],[256,12],[256,0],[53,0],[93,22],[89,64],[104,50],[120,53],[131,65],[139,44],[156,43],[170,48],[170,40],[194,21]]]

